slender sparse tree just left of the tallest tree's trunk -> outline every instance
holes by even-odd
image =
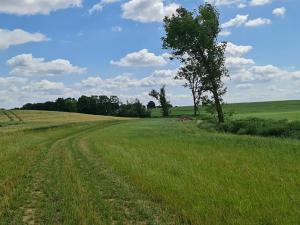
[[[194,116],[197,116],[199,110],[199,104],[202,97],[202,77],[204,74],[204,68],[195,60],[187,60],[184,66],[182,66],[175,79],[185,80],[184,87],[191,90],[194,104]]]

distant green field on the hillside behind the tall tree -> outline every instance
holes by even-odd
[[[225,112],[234,112],[236,118],[258,117],[265,119],[288,119],[300,120],[300,100],[276,101],[276,102],[254,102],[226,104]],[[206,114],[205,110],[200,113]],[[174,107],[171,116],[193,115],[192,106]],[[152,117],[160,117],[160,109],[152,110]]]

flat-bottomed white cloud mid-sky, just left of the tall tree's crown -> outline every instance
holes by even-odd
[[[111,64],[122,67],[147,67],[147,66],[163,66],[167,64],[166,55],[155,55],[148,49],[142,49],[138,52],[128,53],[119,61],[111,61]]]

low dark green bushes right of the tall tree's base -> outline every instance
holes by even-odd
[[[241,134],[300,139],[300,121],[248,118],[228,120],[217,127],[218,130]]]

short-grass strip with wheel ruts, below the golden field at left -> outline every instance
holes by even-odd
[[[87,134],[116,123],[76,124],[1,138],[0,224],[180,224],[83,142]]]

